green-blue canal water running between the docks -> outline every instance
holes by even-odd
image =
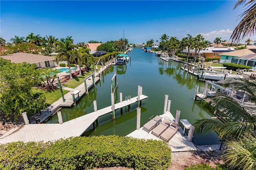
[[[74,107],[62,108],[63,121],[94,111],[93,101],[97,101],[97,108],[102,109],[111,106],[111,79],[117,72],[118,87],[115,90],[115,103],[120,101],[119,94],[122,92],[122,100],[126,97],[135,97],[138,94],[138,86],[142,86],[142,94],[148,96],[142,100],[141,122],[142,127],[152,115],[161,115],[164,112],[164,98],[168,95],[171,100],[170,112],[175,118],[176,110],[180,110],[180,119],[187,119],[191,124],[197,119],[210,118],[214,115],[201,106],[200,102],[193,100],[196,86],[199,93],[204,91],[204,82],[199,82],[196,76],[188,74],[180,69],[176,61],[163,61],[155,56],[155,53],[147,53],[141,49],[134,49],[128,53],[130,61],[127,65],[110,66],[105,72],[102,80],[96,87],[90,89],[89,94],[84,95]],[[130,111],[128,107],[117,110],[116,119],[112,120],[111,113],[98,118],[95,129],[92,125],[83,136],[92,135],[119,135],[126,136],[136,130],[136,104],[132,104]],[[58,123],[55,114],[46,123]],[[182,124],[179,123],[183,128]],[[186,133],[188,131],[186,130]],[[193,143],[196,145],[219,144],[218,136],[213,131],[208,135],[194,133]]]

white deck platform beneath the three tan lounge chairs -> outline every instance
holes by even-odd
[[[160,115],[160,117],[163,117],[164,119],[168,119],[171,121],[174,121],[174,117],[172,116],[172,113],[170,111],[167,111],[166,113]],[[142,130],[142,127],[140,130],[135,130],[127,137],[134,137],[138,139],[155,139],[155,140],[161,140],[160,138],[156,137],[155,135],[152,135],[151,131],[148,133],[144,130]],[[195,145],[192,142],[188,142],[188,137],[186,135],[183,135],[183,130],[180,127],[179,131],[172,137],[172,139],[169,141],[168,145],[171,147],[172,152],[184,152],[184,151],[192,151],[196,150]]]

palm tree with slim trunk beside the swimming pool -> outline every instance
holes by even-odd
[[[68,68],[70,73],[70,79],[72,79],[71,69],[70,69],[70,61],[72,61],[72,55],[74,54],[72,51],[75,49],[75,45],[72,44],[70,40],[66,40],[65,42],[58,42],[58,55],[56,56],[56,62],[63,60],[64,57],[68,61]]]

